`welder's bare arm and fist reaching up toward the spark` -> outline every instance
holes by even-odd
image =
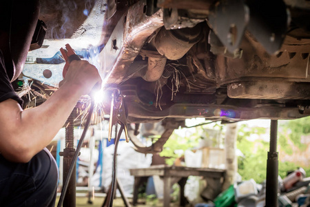
[[[72,61],[59,90],[36,108],[22,110],[17,101],[0,103],[0,152],[10,161],[28,162],[65,124],[81,95],[100,82],[87,61]]]

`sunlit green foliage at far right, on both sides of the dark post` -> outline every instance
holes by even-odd
[[[287,155],[293,154],[293,150],[288,142],[288,137],[293,141],[294,145],[300,146],[300,136],[307,135],[306,133],[310,132],[310,127],[307,124],[309,123],[309,121],[307,121],[308,119],[285,121],[280,124],[278,130],[278,143],[280,144],[281,150]],[[291,133],[289,133],[289,130],[291,130]],[[298,130],[301,132],[298,132]],[[293,133],[298,134],[299,138],[297,139],[296,135],[292,135]],[[266,179],[269,142],[263,141],[262,139],[251,141],[250,136],[254,134],[266,134],[265,136],[269,136],[266,128],[249,128],[247,124],[242,124],[238,128],[237,148],[244,155],[244,157],[238,157],[238,172],[243,180],[253,178],[257,183],[260,183]],[[307,146],[302,146],[302,148],[307,148]],[[300,166],[295,163],[279,161],[278,173],[280,177],[284,178],[287,175],[287,171],[296,170],[298,167]],[[302,167],[306,171],[306,175],[309,177],[310,166]]]

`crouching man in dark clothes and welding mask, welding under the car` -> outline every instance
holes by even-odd
[[[0,206],[54,206],[58,170],[47,146],[81,95],[101,83],[87,61],[72,61],[62,86],[23,110],[11,82],[21,74],[39,14],[37,0],[0,3]]]

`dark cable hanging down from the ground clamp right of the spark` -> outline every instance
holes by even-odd
[[[121,139],[121,134],[123,132],[124,126],[121,124],[121,128],[118,130],[118,135],[117,138],[115,139],[115,144],[114,144],[114,155],[113,155],[113,165],[112,165],[112,182],[111,182],[111,193],[110,193],[110,198],[109,198],[109,207],[113,206],[113,201],[114,201],[114,193],[116,192],[116,157],[117,157],[117,148],[118,148],[118,142],[119,139]]]

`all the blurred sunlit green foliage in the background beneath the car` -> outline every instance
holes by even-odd
[[[278,144],[280,145],[280,150],[282,150],[282,152],[285,152],[287,155],[292,155],[293,149],[291,143],[300,148],[300,150],[307,148],[307,145],[301,144],[300,137],[302,135],[310,135],[310,117],[290,121],[279,121],[279,123]],[[174,164],[174,160],[183,155],[182,152],[187,149],[195,148],[200,139],[203,139],[203,135],[208,137],[204,128],[216,128],[222,130],[223,126],[220,124],[199,126],[190,134],[187,132],[184,132],[184,135],[174,133],[168,139],[164,146],[164,150],[160,155],[171,157],[170,159],[167,159],[166,162],[169,165]],[[244,155],[244,157],[238,157],[238,172],[243,180],[253,178],[256,182],[260,183],[266,178],[269,141],[264,141],[264,139],[253,139],[251,135],[257,135],[257,137],[264,135],[265,137],[269,137],[269,128],[249,127],[247,124],[242,124],[238,127],[237,148]],[[287,171],[296,170],[298,167],[299,166],[295,163],[279,161],[279,175],[284,178],[287,175]],[[310,166],[302,167],[306,170],[307,176],[309,177]]]

